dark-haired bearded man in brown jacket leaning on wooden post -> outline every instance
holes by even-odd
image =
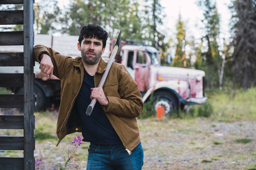
[[[136,122],[143,109],[138,86],[125,67],[113,63],[103,88],[97,88],[107,63],[101,59],[108,33],[97,24],[83,26],[78,50],[71,58],[36,45],[34,58],[42,72],[61,80],[57,136],[82,132],[90,144],[87,169],[142,169],[143,149]],[[92,98],[91,116],[85,111]]]

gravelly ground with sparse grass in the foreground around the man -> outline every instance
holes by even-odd
[[[256,122],[216,122],[211,119],[138,120],[144,148],[143,169],[256,169]],[[244,139],[244,143],[239,143]],[[246,143],[246,141],[248,143]],[[67,154],[68,142],[36,142],[42,169],[53,168]],[[86,168],[88,144],[76,154],[78,169]]]

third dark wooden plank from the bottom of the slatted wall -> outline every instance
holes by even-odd
[[[23,129],[22,115],[0,115],[0,129]]]

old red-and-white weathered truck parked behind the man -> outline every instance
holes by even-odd
[[[80,55],[76,49],[77,36],[58,38],[35,35],[35,44],[52,46],[56,51],[65,55]],[[113,43],[113,39],[107,41],[103,55],[105,61],[108,60]],[[129,45],[126,41],[122,41],[121,50],[115,61],[122,63],[127,68],[138,84],[143,101],[146,102],[153,97],[154,107],[157,108],[158,105],[163,105],[165,114],[184,108],[185,105],[205,103],[207,100],[204,94],[205,73],[202,70],[161,66],[159,54],[160,52],[153,47]],[[21,73],[23,70],[22,68],[10,69],[14,73]],[[0,68],[0,73],[6,73],[6,70],[8,70],[6,67],[4,69]],[[55,76],[49,79],[47,75],[40,72],[38,63],[35,64],[34,73],[35,110],[41,110],[60,100],[60,80]],[[11,91],[13,93],[23,93],[23,87],[11,88]],[[152,97],[150,97],[151,95]]]

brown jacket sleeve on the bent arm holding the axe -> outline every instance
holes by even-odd
[[[120,97],[107,96],[109,104],[103,109],[107,114],[114,114],[125,118],[138,117],[143,110],[142,95],[139,92],[136,82],[122,65],[119,70]]]

